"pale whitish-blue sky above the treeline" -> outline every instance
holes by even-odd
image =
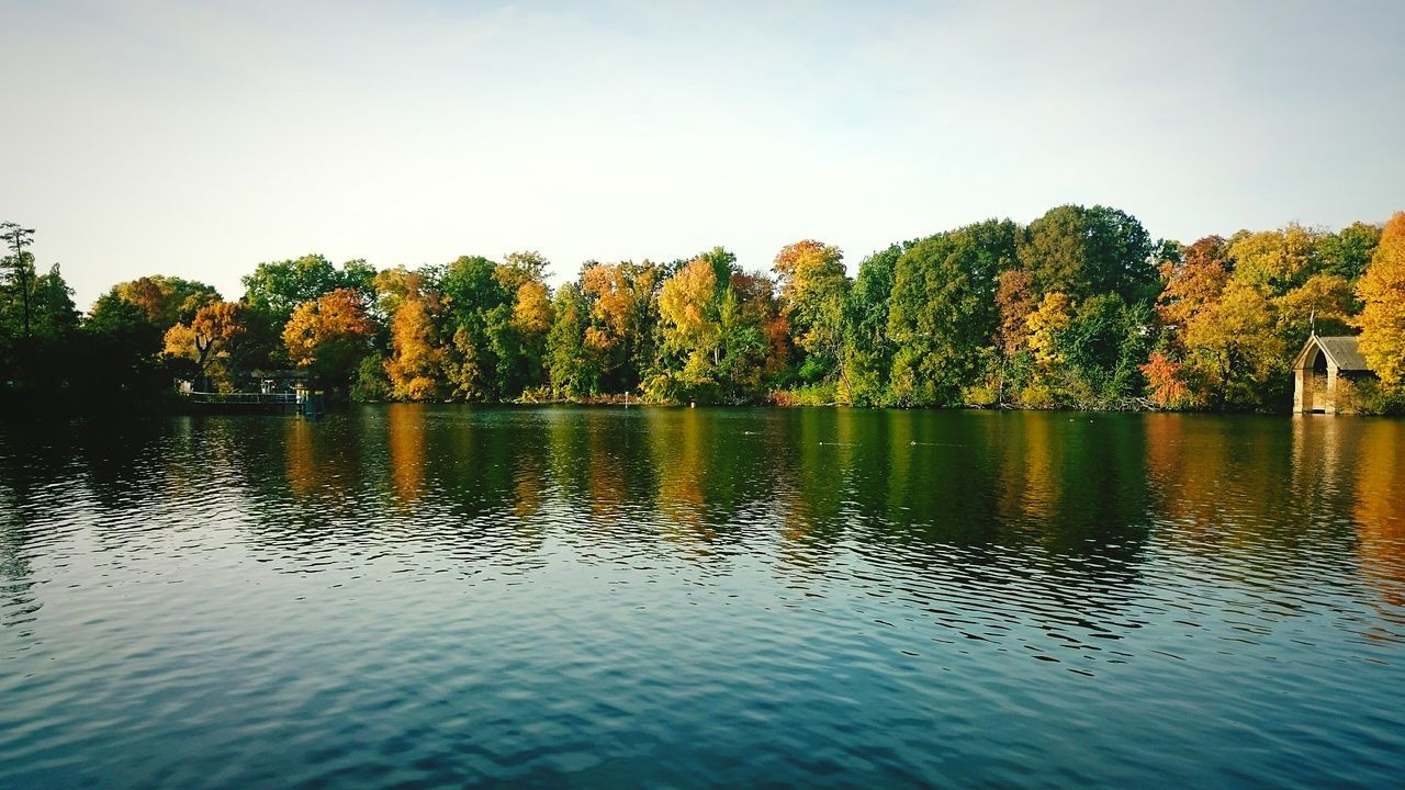
[[[0,221],[87,308],[264,260],[797,239],[1064,202],[1194,240],[1405,209],[1405,3],[0,3]]]

